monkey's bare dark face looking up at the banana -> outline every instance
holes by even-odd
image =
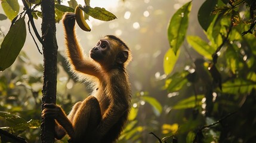
[[[101,39],[97,42],[97,44],[94,46],[94,48],[90,51],[90,57],[97,61],[98,63],[101,63],[104,59],[106,59],[106,56],[108,52],[110,51],[110,43],[109,41],[105,39]]]

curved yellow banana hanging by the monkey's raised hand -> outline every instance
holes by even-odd
[[[79,8],[79,5],[76,6],[75,14],[76,14],[76,23],[78,23],[78,26],[82,30],[90,32],[91,28],[90,28],[90,26],[88,26],[87,22],[85,21],[83,11]]]

